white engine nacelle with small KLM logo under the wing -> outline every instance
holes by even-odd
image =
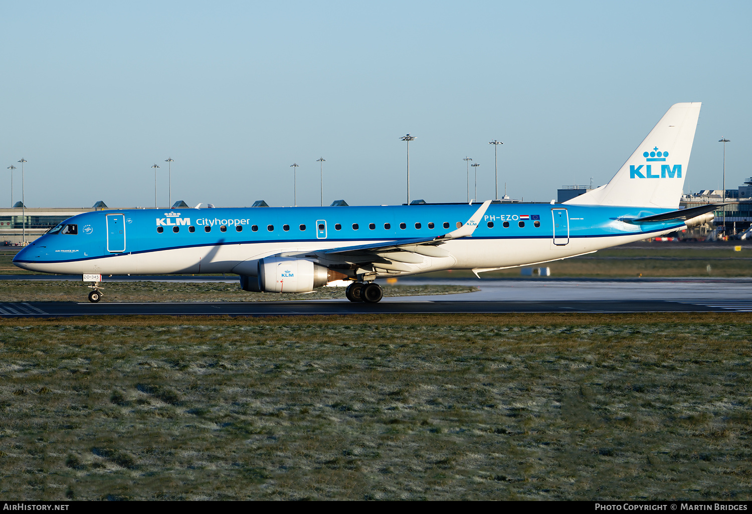
[[[265,292],[311,292],[347,275],[306,259],[265,257],[259,259],[259,290]],[[245,288],[244,288],[245,289]]]

